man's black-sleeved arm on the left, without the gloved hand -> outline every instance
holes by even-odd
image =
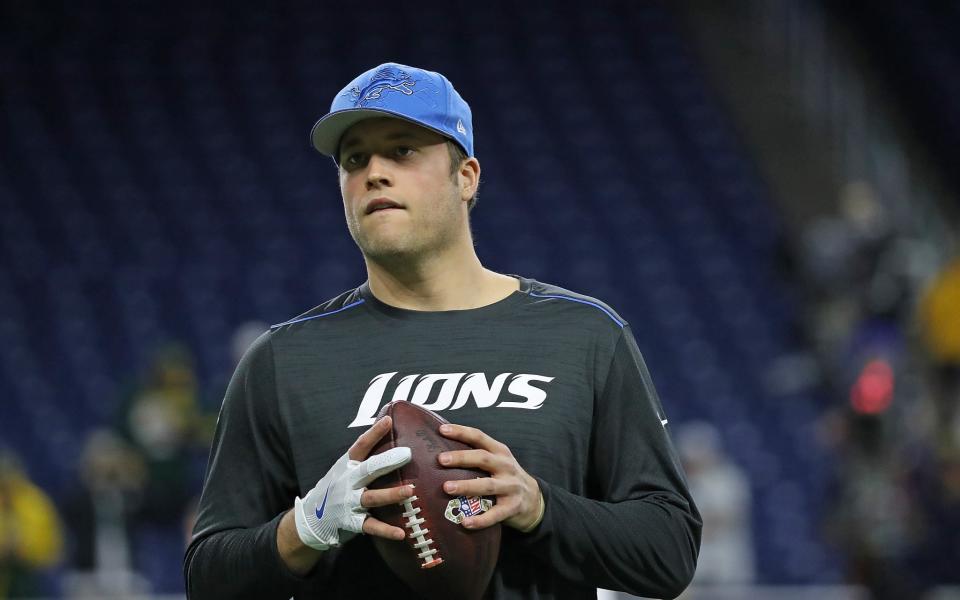
[[[184,558],[193,599],[286,600],[299,584],[277,547],[278,524],[298,490],[274,381],[266,334],[240,361],[220,409]]]

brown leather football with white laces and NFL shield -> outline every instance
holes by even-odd
[[[412,484],[414,496],[408,502],[370,509],[376,518],[407,532],[403,541],[374,537],[377,552],[424,598],[476,600],[483,596],[497,565],[500,524],[471,531],[459,522],[463,516],[488,510],[493,498],[452,496],[443,491],[443,482],[489,475],[440,465],[439,453],[470,446],[440,435],[440,425],[447,421],[436,413],[399,400],[384,406],[378,418],[386,415],[393,418],[393,428],[371,454],[407,446],[412,457],[369,487]]]

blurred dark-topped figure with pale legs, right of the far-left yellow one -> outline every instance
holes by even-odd
[[[63,514],[70,531],[65,588],[72,598],[134,595],[148,586],[131,569],[130,520],[146,476],[143,460],[123,440],[94,431],[84,447],[79,481]]]

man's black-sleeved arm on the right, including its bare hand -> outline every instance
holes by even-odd
[[[516,530],[504,543],[523,546],[565,579],[641,596],[676,597],[693,578],[701,520],[629,328],[623,329],[609,369],[597,383],[589,498],[540,478],[532,478],[537,485],[524,483],[530,475],[503,444],[454,426],[445,435],[486,452],[467,451],[451,464],[491,473],[490,479],[459,483],[466,489],[458,493],[498,494],[498,507],[499,494],[511,496],[497,512],[473,518],[473,525],[503,520]],[[529,533],[520,533],[533,520],[538,491],[545,506],[542,520]]]

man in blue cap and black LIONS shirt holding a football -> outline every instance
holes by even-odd
[[[458,423],[440,433],[476,450],[442,464],[490,474],[445,484],[496,496],[463,522],[504,525],[488,597],[678,595],[700,518],[629,326],[595,299],[481,265],[468,218],[480,163],[450,82],[371,69],[312,141],[338,165],[368,279],[272,327],[238,366],[184,563],[191,597],[413,597],[370,541],[403,531],[367,514],[412,494],[365,488],[409,460],[366,460],[392,399]]]

